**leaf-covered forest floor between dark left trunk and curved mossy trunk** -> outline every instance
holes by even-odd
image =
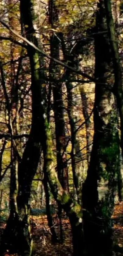
[[[72,236],[68,219],[63,219],[63,243],[51,243],[51,235],[46,216],[33,217],[34,256],[72,256]],[[59,237],[59,223],[56,220],[55,231]]]

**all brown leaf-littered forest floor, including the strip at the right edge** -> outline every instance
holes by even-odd
[[[117,244],[114,247],[113,256],[123,256],[123,202],[116,204],[113,213],[113,240]],[[32,233],[34,240],[34,256],[72,256],[71,228],[67,218],[63,219],[63,243],[51,243],[51,234],[47,225],[46,215],[32,216]],[[59,223],[56,218],[54,224],[56,233],[59,235]],[[5,224],[1,226],[5,228]],[[5,254],[9,256],[10,254]],[[11,254],[12,256],[12,254]]]

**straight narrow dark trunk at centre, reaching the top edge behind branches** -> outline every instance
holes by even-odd
[[[59,21],[58,9],[53,0],[49,0],[49,23],[52,28],[55,28],[56,23]],[[60,33],[52,34],[50,37],[50,55],[53,58],[60,59]],[[53,110],[55,117],[55,134],[56,134],[56,158],[57,158],[57,173],[59,181],[64,190],[69,192],[68,185],[68,169],[67,159],[65,154],[65,123],[63,116],[63,99],[62,99],[62,83],[57,82],[60,76],[59,66],[50,60],[49,76],[56,79],[56,82],[50,82],[53,92]],[[52,81],[52,80],[51,80]],[[58,217],[60,223],[60,241],[63,242],[63,229],[62,229],[62,208],[58,205]]]

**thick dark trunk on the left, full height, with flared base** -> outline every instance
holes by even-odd
[[[25,27],[27,39],[34,42],[38,46],[35,37],[32,20],[34,19],[32,2],[27,0],[20,1],[20,13],[22,23]],[[26,30],[26,26],[28,29]],[[31,90],[32,90],[32,127],[29,140],[27,141],[22,161],[18,166],[18,191],[16,195],[16,211],[14,211],[13,219],[11,213],[5,229],[5,240],[7,247],[10,247],[12,252],[19,251],[21,255],[30,256],[32,254],[32,238],[31,228],[29,223],[30,211],[30,189],[31,182],[36,173],[38,162],[41,155],[41,130],[42,122],[44,123],[44,99],[42,98],[42,79],[41,72],[39,73],[40,61],[38,53],[31,47],[28,47],[28,55],[31,66]],[[21,246],[21,243],[23,247]],[[10,242],[10,243],[9,243]],[[7,248],[6,247],[6,248]],[[7,248],[8,249],[8,248]]]

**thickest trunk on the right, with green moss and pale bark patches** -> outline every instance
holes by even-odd
[[[111,255],[111,215],[114,208],[116,177],[120,168],[120,142],[118,116],[112,77],[107,75],[112,69],[110,45],[103,1],[98,3],[95,36],[95,86],[94,137],[90,166],[83,185],[84,236],[86,254]],[[103,189],[103,193],[101,192]]]

